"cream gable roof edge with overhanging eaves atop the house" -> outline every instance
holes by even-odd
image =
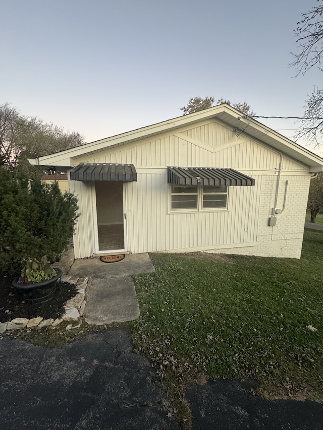
[[[267,144],[276,151],[307,165],[310,172],[323,171],[323,159],[321,157],[313,154],[308,149],[303,148],[269,127],[264,126],[255,119],[244,116],[241,112],[227,103],[222,103],[218,106],[213,106],[209,109],[179,116],[177,118],[168,119],[166,121],[158,122],[157,124],[122,133],[120,135],[90,142],[65,151],[44,155],[35,159],[29,159],[29,162],[35,165],[56,166],[64,171],[64,168],[66,169],[77,165],[77,158],[81,156],[100,152],[114,145],[125,145],[160,133],[171,132],[172,130],[190,126],[196,122],[207,119],[216,119],[221,121],[223,125],[233,128],[238,133]]]

